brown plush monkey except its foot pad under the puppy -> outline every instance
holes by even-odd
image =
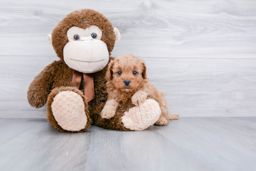
[[[62,132],[83,132],[90,123],[130,131],[121,121],[124,113],[110,119],[100,115],[107,101],[105,75],[113,59],[109,56],[119,40],[118,29],[101,13],[83,9],[68,14],[48,35],[60,60],[32,81],[30,105],[40,108],[47,102],[47,120]]]

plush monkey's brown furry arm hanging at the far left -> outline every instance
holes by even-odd
[[[27,91],[28,103],[32,107],[41,108],[47,101],[53,86],[56,61],[46,66],[31,82]]]

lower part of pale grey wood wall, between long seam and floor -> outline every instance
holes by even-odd
[[[180,117],[256,116],[256,60],[143,58],[151,83]],[[0,56],[0,116],[45,117],[32,108],[27,89],[56,57]],[[16,61],[13,66],[12,61]]]

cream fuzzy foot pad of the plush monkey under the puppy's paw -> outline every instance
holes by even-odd
[[[121,119],[125,128],[140,131],[153,125],[159,119],[160,114],[159,104],[153,99],[147,99],[141,105],[125,112]]]

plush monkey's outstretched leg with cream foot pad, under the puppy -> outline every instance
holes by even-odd
[[[139,106],[132,107],[128,112],[119,107],[115,116],[110,119],[101,118],[104,104],[98,105],[92,112],[92,124],[107,129],[120,131],[140,131],[153,125],[161,114],[159,104],[153,99],[147,99]]]

